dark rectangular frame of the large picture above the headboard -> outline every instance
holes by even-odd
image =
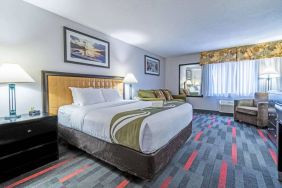
[[[79,64],[79,65],[86,65],[86,66],[94,66],[94,67],[101,67],[101,68],[108,68],[108,69],[110,68],[110,62],[111,62],[110,61],[110,43],[108,41],[99,39],[97,37],[93,37],[91,35],[82,33],[80,31],[77,31],[77,30],[74,30],[74,29],[71,29],[71,28],[68,28],[68,27],[65,27],[65,26],[63,28],[64,28],[64,62],[65,63]],[[87,36],[89,38],[93,38],[95,40],[99,40],[99,41],[107,43],[108,44],[108,66],[91,65],[91,64],[87,64],[87,63],[80,63],[80,62],[76,62],[76,61],[69,61],[69,60],[67,60],[67,41],[66,41],[67,30],[75,32],[75,33],[78,33],[78,34],[81,34],[81,35],[85,35],[85,36]]]

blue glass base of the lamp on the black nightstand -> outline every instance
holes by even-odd
[[[9,84],[9,112],[10,116],[5,117],[5,120],[18,119],[21,115],[17,115],[16,111],[16,84]]]

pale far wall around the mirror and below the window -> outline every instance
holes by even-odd
[[[200,62],[200,54],[191,54],[166,58],[166,88],[178,94],[179,65]],[[188,102],[194,109],[218,110],[218,98],[215,97],[188,97]]]

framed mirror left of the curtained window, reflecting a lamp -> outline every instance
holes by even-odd
[[[202,96],[202,66],[199,63],[179,65],[179,93]]]

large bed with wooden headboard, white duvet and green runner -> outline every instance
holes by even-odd
[[[43,72],[44,109],[58,114],[59,135],[68,143],[122,171],[151,179],[192,132],[192,107],[171,102],[117,100],[74,105],[69,87],[115,88],[122,78]],[[142,121],[139,121],[139,119]]]

